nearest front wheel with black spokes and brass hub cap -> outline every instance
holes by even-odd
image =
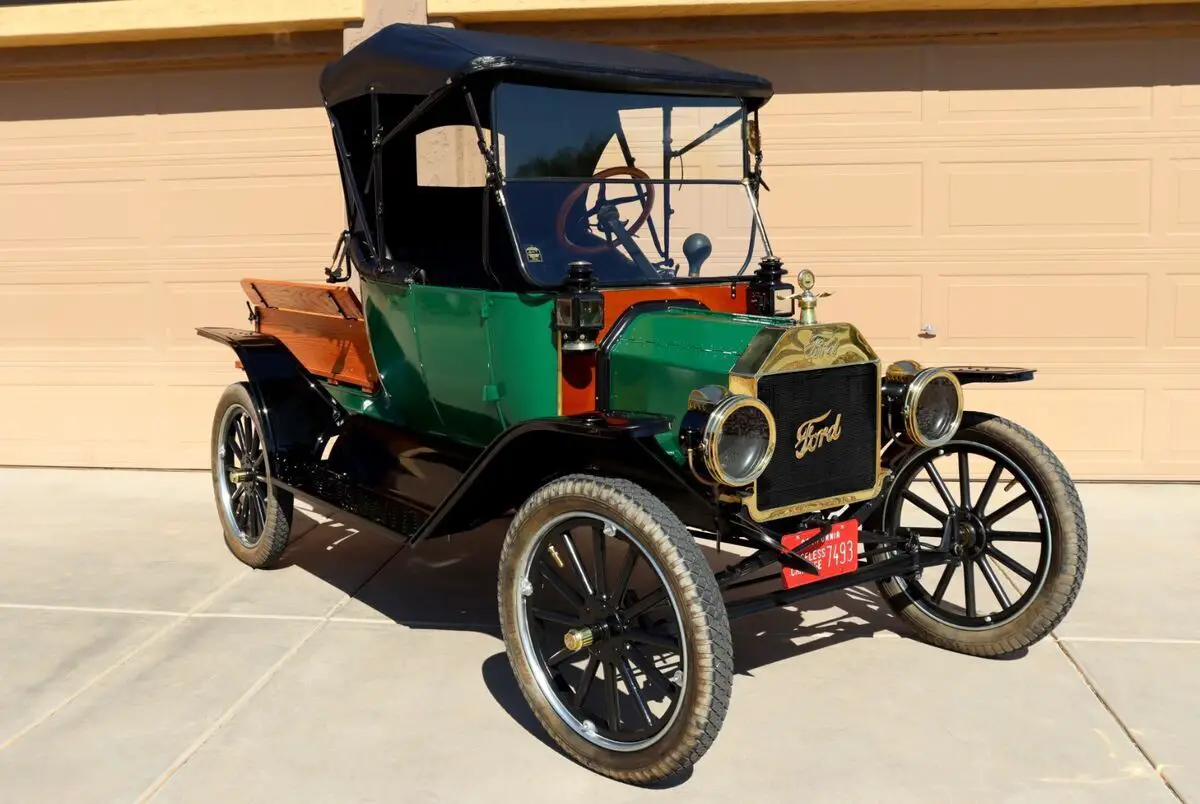
[[[530,497],[500,556],[500,626],[522,694],[576,761],[654,782],[725,720],[733,647],[720,589],[644,488],[572,475]]]

